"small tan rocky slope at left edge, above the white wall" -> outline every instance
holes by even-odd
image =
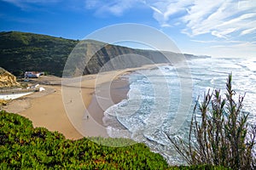
[[[16,82],[16,77],[0,67],[0,88],[11,88],[14,86],[20,86],[20,83]]]

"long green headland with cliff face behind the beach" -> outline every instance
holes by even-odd
[[[183,56],[196,57],[18,31],[0,32],[0,39],[0,66],[20,77],[24,71],[44,71],[62,77],[65,68],[64,74],[76,76],[170,61],[173,64]]]

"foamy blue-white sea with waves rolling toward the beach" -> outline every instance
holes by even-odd
[[[246,93],[244,111],[250,112],[249,123],[256,124],[256,59],[204,58],[186,62],[188,67],[185,69],[189,73],[184,71],[185,74],[178,65],[161,65],[126,75],[130,82],[127,99],[104,112],[103,122],[108,127],[108,135],[143,142],[166,157],[169,163],[185,163],[171,147],[167,135],[187,137],[198,96],[201,100],[208,89],[220,89],[224,96],[225,83],[231,72],[235,98]],[[191,87],[183,88],[183,83],[189,83],[189,80]],[[184,93],[189,95],[184,98]],[[184,99],[191,103],[184,103]],[[180,114],[179,109],[184,105],[189,106],[188,113]],[[178,116],[183,117],[175,122]]]

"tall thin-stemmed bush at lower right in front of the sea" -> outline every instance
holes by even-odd
[[[190,123],[189,142],[168,136],[189,165],[256,168],[253,157],[256,127],[248,129],[248,113],[241,111],[245,95],[239,95],[237,102],[233,99],[236,92],[232,89],[231,80],[230,74],[224,98],[220,90],[212,93],[208,90],[201,104],[196,102]]]

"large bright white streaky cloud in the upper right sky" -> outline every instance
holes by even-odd
[[[256,3],[253,0],[163,0],[146,3],[154,10],[154,19],[160,26],[174,26],[172,21],[178,20],[183,23],[182,32],[191,37],[207,33],[219,38],[228,38],[234,33],[243,36],[253,33],[256,27]],[[176,16],[181,12],[183,15]]]

